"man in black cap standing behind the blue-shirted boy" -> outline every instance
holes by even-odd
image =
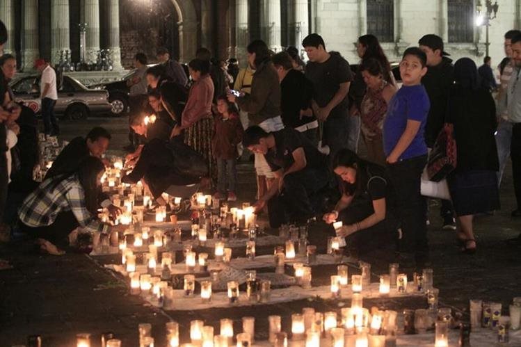
[[[428,34],[419,39],[419,49],[427,56],[427,73],[422,78],[422,84],[427,90],[431,109],[428,111],[425,128],[425,141],[432,148],[442,130],[447,114],[447,97],[449,88],[454,83],[454,66],[449,54],[443,51],[443,40],[438,35]],[[440,215],[443,218],[444,230],[456,230],[454,208],[450,200],[441,200]]]

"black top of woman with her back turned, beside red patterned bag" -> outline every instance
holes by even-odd
[[[454,124],[458,151],[456,172],[499,170],[494,133],[496,106],[484,88],[470,90],[455,85],[450,89],[449,121]]]

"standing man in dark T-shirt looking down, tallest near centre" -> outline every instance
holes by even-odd
[[[326,44],[317,33],[307,35],[302,45],[310,58],[305,76],[313,83],[312,108],[316,118],[323,122],[322,140],[330,148],[330,158],[344,147],[355,151],[348,120],[347,95],[353,81],[349,63],[339,53],[326,51]]]

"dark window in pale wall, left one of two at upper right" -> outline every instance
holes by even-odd
[[[394,0],[367,0],[367,33],[394,42]]]

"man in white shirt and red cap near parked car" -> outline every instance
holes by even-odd
[[[56,136],[60,134],[60,128],[54,115],[54,105],[58,100],[58,88],[56,88],[56,72],[45,59],[35,62],[36,70],[42,73],[40,78],[40,98],[42,99],[42,118],[45,134]]]

